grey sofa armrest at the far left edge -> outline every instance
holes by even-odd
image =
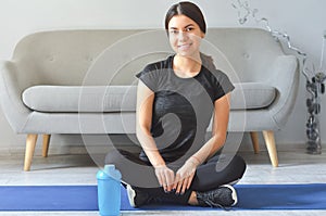
[[[30,114],[22,101],[23,89],[17,81],[17,67],[13,62],[0,61],[0,104],[15,132],[23,132]]]

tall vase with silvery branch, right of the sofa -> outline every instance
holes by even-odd
[[[274,28],[272,28],[269,26],[268,20],[265,17],[259,17],[259,10],[252,9],[249,5],[248,1],[233,0],[231,7],[237,11],[238,22],[240,25],[244,25],[249,21],[249,18],[253,18],[256,24],[263,24],[265,29],[269,31],[276,40],[283,40],[287,45],[287,48],[289,50],[298,54],[298,59],[299,61],[301,61],[300,71],[306,79],[305,88],[310,94],[310,98],[306,99],[306,107],[309,113],[308,122],[305,124],[308,137],[306,152],[309,154],[321,154],[322,143],[318,114],[321,113],[321,94],[325,92],[324,81],[326,80],[326,75],[325,73],[323,73],[323,61],[326,30],[323,35],[319,68],[316,71],[314,64],[312,65],[312,68],[308,67],[308,54],[292,45],[290,36],[285,31],[275,30]]]

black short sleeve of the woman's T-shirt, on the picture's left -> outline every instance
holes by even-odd
[[[140,73],[136,74],[136,77],[152,91],[158,90],[159,71],[152,65],[146,66]]]

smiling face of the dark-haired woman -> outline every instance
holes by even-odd
[[[168,23],[168,39],[172,49],[183,56],[196,56],[204,37],[199,25],[186,15],[175,15]]]

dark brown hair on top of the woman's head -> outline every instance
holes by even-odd
[[[206,33],[206,23],[201,10],[195,3],[189,1],[183,1],[173,4],[166,13],[165,16],[165,29],[168,29],[168,23],[171,18],[175,15],[185,15],[197,23],[202,33]]]

